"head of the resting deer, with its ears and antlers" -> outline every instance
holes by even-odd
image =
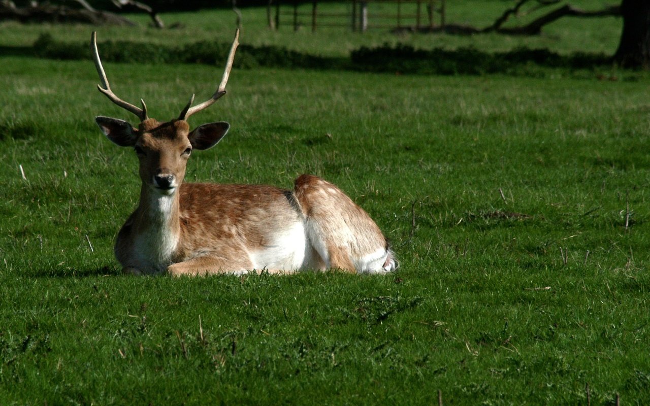
[[[224,121],[207,123],[190,131],[187,119],[192,114],[211,106],[222,95],[226,94],[226,83],[230,75],[235,57],[235,50],[239,45],[239,30],[235,32],[235,40],[228,54],[226,69],[214,95],[200,105],[192,107],[194,95],[175,120],[160,122],[147,115],[144,100],[140,99],[142,108],[123,101],[110,90],[109,81],[99,59],[96,32],[92,33],[91,48],[95,67],[99,74],[101,84],[99,91],[105,94],[116,105],[132,112],[140,119],[138,127],[133,127],[128,121],[117,118],[98,116],[95,121],[101,131],[118,146],[133,147],[140,161],[140,179],[142,184],[149,186],[153,191],[170,195],[183,182],[187,159],[192,149],[208,149],[216,145],[223,138],[230,125]]]

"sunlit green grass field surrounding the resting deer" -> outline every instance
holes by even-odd
[[[478,3],[506,5],[467,10]],[[270,34],[263,11],[242,42],[250,32],[333,55],[346,34]],[[231,12],[210,13],[99,37],[229,41]],[[212,13],[225,22],[208,29]],[[491,21],[476,14],[465,22]],[[612,53],[620,21],[604,21],[531,41]],[[92,29],[1,23],[0,45]],[[346,35],[349,49],[397,41]],[[432,38],[527,43],[399,40]],[[105,67],[120,97],[144,98],[159,120],[194,92],[207,99],[222,73]],[[96,90],[92,61],[0,57],[0,404],[431,405],[439,390],[445,405],[647,403],[650,77],[626,77],[233,71],[227,96],[190,120],[231,131],[193,155],[186,180],[289,188],[320,175],[376,220],[401,268],[172,279],[120,275],[112,255],[137,203],[137,160],[93,119],[133,117]]]

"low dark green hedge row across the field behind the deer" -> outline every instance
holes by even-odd
[[[99,44],[101,58],[110,62],[197,63],[221,65],[229,43],[201,41],[181,47],[130,41]],[[88,44],[67,44],[44,34],[34,43],[39,57],[90,59]],[[481,75],[484,73],[530,73],[535,67],[591,69],[611,64],[603,54],[559,55],[548,49],[519,48],[502,53],[486,53],[475,48],[420,50],[407,45],[361,47],[349,58],[328,58],[291,51],[285,47],[242,44],[237,49],[235,67],[308,68],[359,70],[437,75]]]

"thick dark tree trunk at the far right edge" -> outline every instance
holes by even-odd
[[[623,32],[614,60],[626,67],[650,67],[650,1],[623,0]]]

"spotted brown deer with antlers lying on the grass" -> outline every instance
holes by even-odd
[[[140,200],[114,246],[122,272],[132,275],[209,275],[248,272],[288,274],[336,269],[388,273],[398,262],[369,214],[337,186],[315,175],[300,175],[293,190],[257,184],[184,182],[194,150],[215,146],[230,125],[205,123],[190,131],[188,118],[226,94],[239,30],[216,92],[194,104],[194,94],[175,120],[149,118],[142,108],[110,89],[99,58],[96,32],[91,49],[99,92],[140,120],[97,116],[111,142],[135,150]]]

